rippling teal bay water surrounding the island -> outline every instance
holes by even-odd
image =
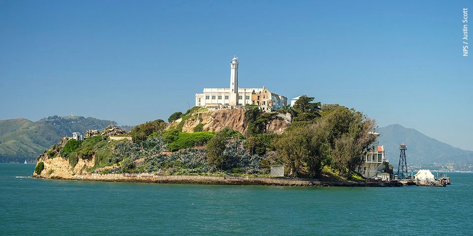
[[[375,188],[21,178],[33,170],[0,164],[0,235],[473,235],[473,174]]]

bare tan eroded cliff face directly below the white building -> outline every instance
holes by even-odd
[[[282,134],[291,124],[291,117],[288,115],[281,114],[278,116],[282,119],[272,120],[269,125],[269,132]],[[203,124],[203,131],[220,131],[228,126],[242,134],[246,134],[248,126],[243,109],[221,109],[213,112],[197,113],[182,122],[184,122],[182,132],[188,133],[194,132],[194,128],[197,125]],[[175,125],[177,125],[177,122],[176,124],[171,124],[170,127],[173,128]]]

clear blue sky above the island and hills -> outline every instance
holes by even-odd
[[[473,150],[472,1],[0,0],[0,119],[135,125],[229,86],[302,94]]]

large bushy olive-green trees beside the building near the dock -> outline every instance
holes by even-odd
[[[362,164],[362,156],[374,142],[374,121],[354,109],[324,105],[316,122],[291,125],[274,143],[278,158],[297,176],[304,169],[310,177],[330,165],[339,174]]]

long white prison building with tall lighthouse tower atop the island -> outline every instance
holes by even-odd
[[[196,106],[210,108],[231,108],[257,105],[261,110],[274,111],[287,104],[287,97],[263,88],[238,88],[238,58],[230,63],[230,88],[204,88],[196,93]]]

